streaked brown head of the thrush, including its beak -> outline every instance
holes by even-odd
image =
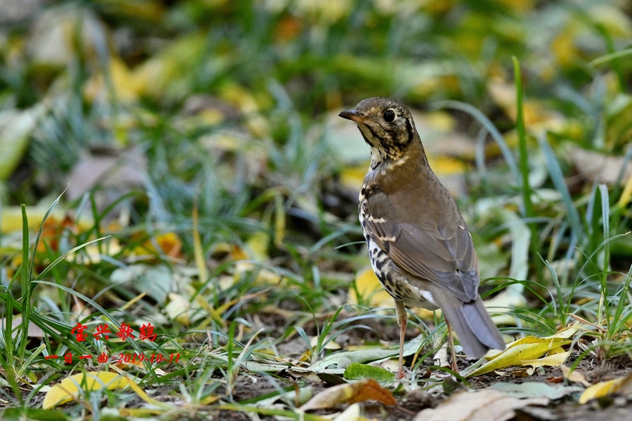
[[[398,159],[415,139],[419,141],[409,109],[391,98],[367,98],[338,115],[357,123],[376,163]]]

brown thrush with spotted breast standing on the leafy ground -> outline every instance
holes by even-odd
[[[428,165],[409,109],[390,98],[368,98],[338,115],[354,121],[371,147],[358,210],[371,266],[395,300],[397,378],[404,377],[404,305],[442,310],[455,370],[452,328],[470,356],[505,349],[478,293],[472,236],[452,194]]]

